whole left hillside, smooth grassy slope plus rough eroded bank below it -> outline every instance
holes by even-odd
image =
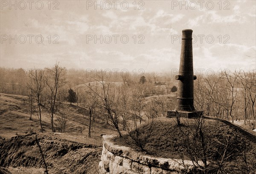
[[[44,133],[40,132],[37,115],[30,118],[27,97],[0,94],[0,166],[12,174],[44,173],[41,146],[49,173],[97,173],[102,151],[101,134],[116,134],[104,118],[96,117],[88,137],[87,110],[68,105],[67,133],[51,131],[48,113],[43,109]],[[80,132],[82,128],[82,133]],[[5,169],[6,168],[6,169]]]

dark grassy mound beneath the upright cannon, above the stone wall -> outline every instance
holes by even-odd
[[[138,135],[148,134],[143,151],[131,146],[131,136],[115,138],[116,144],[130,146],[138,152],[164,158],[192,160],[198,170],[192,173],[250,173],[256,172],[256,133],[244,131],[225,120],[204,118],[202,137],[198,120],[181,118],[156,118],[153,124],[143,125]],[[128,141],[127,141],[128,140]],[[128,142],[128,143],[127,143]],[[198,167],[198,161],[206,162]]]

